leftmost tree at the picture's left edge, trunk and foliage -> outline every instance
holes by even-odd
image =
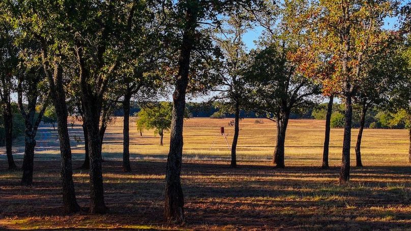
[[[0,5],[1,7],[2,5]],[[11,91],[13,77],[18,64],[18,48],[13,44],[12,25],[6,21],[7,13],[0,10],[0,100],[3,112],[6,155],[9,169],[17,169],[12,154],[13,142],[13,113],[11,106]]]

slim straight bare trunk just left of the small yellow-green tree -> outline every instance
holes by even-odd
[[[130,94],[124,95],[123,100],[123,171],[130,172]]]

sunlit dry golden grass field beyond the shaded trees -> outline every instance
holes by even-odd
[[[232,119],[192,118],[185,121],[184,154],[190,157],[225,157],[230,151],[222,136],[218,136],[220,126],[225,127],[229,145],[232,142],[233,127],[228,126]],[[239,159],[270,159],[272,158],[275,140],[275,123],[262,119],[243,119],[240,122],[240,137],[237,153]],[[115,123],[107,129],[106,142],[103,150],[121,156],[123,149],[123,121],[116,118]],[[325,121],[322,120],[290,120],[285,142],[285,163],[293,165],[317,166],[322,161],[324,145]],[[355,144],[358,129],[353,129],[351,137],[351,157],[355,163]],[[168,153],[169,134],[164,137],[164,146],[158,145],[158,137],[154,131],[145,131],[143,137],[137,133],[135,124],[130,127],[130,151],[142,155],[165,155]],[[343,129],[331,130],[330,165],[339,166],[341,162]],[[210,148],[213,145],[213,148]],[[391,165],[398,161],[407,164],[408,131],[402,129],[365,129],[362,142],[363,162],[366,165]],[[397,164],[398,164],[397,163]]]

